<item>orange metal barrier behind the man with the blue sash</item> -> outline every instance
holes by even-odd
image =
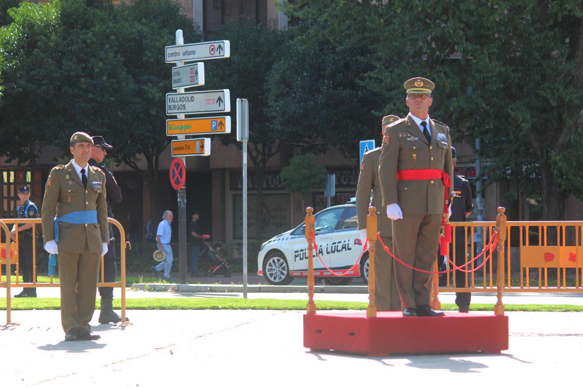
[[[100,282],[97,283],[97,287],[120,287],[121,289],[121,322],[120,327],[125,325],[132,325],[131,322],[125,321],[125,248],[129,244],[129,241],[125,241],[125,231],[124,227],[121,226],[117,220],[113,218],[107,219],[108,223],[115,225],[118,230],[120,230],[120,258],[121,258],[121,265],[120,265],[120,282],[108,282],[106,283],[104,280],[104,259],[101,257],[101,279]],[[18,233],[16,233],[15,241],[10,241],[10,230],[6,224],[15,224],[16,228],[19,224],[23,223],[32,223],[33,227],[31,231],[33,236],[36,236],[36,225],[41,223],[40,218],[10,218],[10,219],[2,219],[0,220],[0,268],[2,265],[6,266],[6,280],[5,282],[1,282],[0,277],[0,287],[6,288],[6,325],[19,325],[18,323],[11,322],[10,319],[10,287],[60,287],[61,283],[54,282],[52,276],[50,276],[49,282],[36,282],[36,239],[33,239],[33,279],[32,283],[22,283],[19,282],[19,259],[18,259]],[[2,233],[3,231],[3,233]],[[5,234],[6,243],[2,243],[2,234]],[[131,245],[130,245],[131,249]],[[16,264],[16,282],[11,283],[10,280],[10,265]],[[1,273],[1,272],[0,272]]]

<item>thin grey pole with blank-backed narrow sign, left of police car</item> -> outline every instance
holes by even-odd
[[[247,299],[247,141],[249,102],[237,98],[237,141],[243,141],[243,298]]]

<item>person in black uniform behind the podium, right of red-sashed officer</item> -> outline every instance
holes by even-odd
[[[453,165],[457,162],[455,148],[451,147],[451,158]],[[466,217],[472,214],[472,187],[470,183],[463,176],[458,175],[454,170],[454,191],[455,198],[451,204],[451,216],[449,220],[452,222],[465,222]],[[468,245],[468,240],[466,234],[463,231],[463,227],[455,228],[455,254],[453,244],[449,244],[449,257],[454,258],[452,261],[455,266],[461,266],[466,263],[466,245]],[[468,228],[468,233],[470,230]],[[469,235],[468,235],[469,237]],[[438,257],[438,264],[440,265],[444,262],[444,257]],[[463,269],[468,270],[470,266],[464,267]],[[461,270],[455,271],[455,287],[465,288],[466,286],[466,273]],[[445,286],[447,282],[446,275],[442,275],[440,286]],[[469,312],[470,309],[470,298],[471,293],[455,293],[455,304],[458,305],[459,312]]]

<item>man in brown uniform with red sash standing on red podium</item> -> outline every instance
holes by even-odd
[[[395,257],[431,272],[437,258],[445,201],[452,186],[451,138],[447,125],[430,119],[435,85],[424,78],[405,82],[406,118],[389,124],[382,138],[379,177],[382,204],[392,219]],[[441,316],[429,305],[431,274],[395,267],[403,316]]]

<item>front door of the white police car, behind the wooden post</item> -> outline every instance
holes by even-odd
[[[318,245],[318,254],[327,266],[330,266],[330,243],[332,235],[338,228],[345,208],[325,209],[315,215],[315,241]],[[308,241],[304,236],[293,241],[293,256],[289,263],[293,268],[292,276],[303,276],[308,269]],[[314,251],[314,271],[325,270],[322,262]]]

